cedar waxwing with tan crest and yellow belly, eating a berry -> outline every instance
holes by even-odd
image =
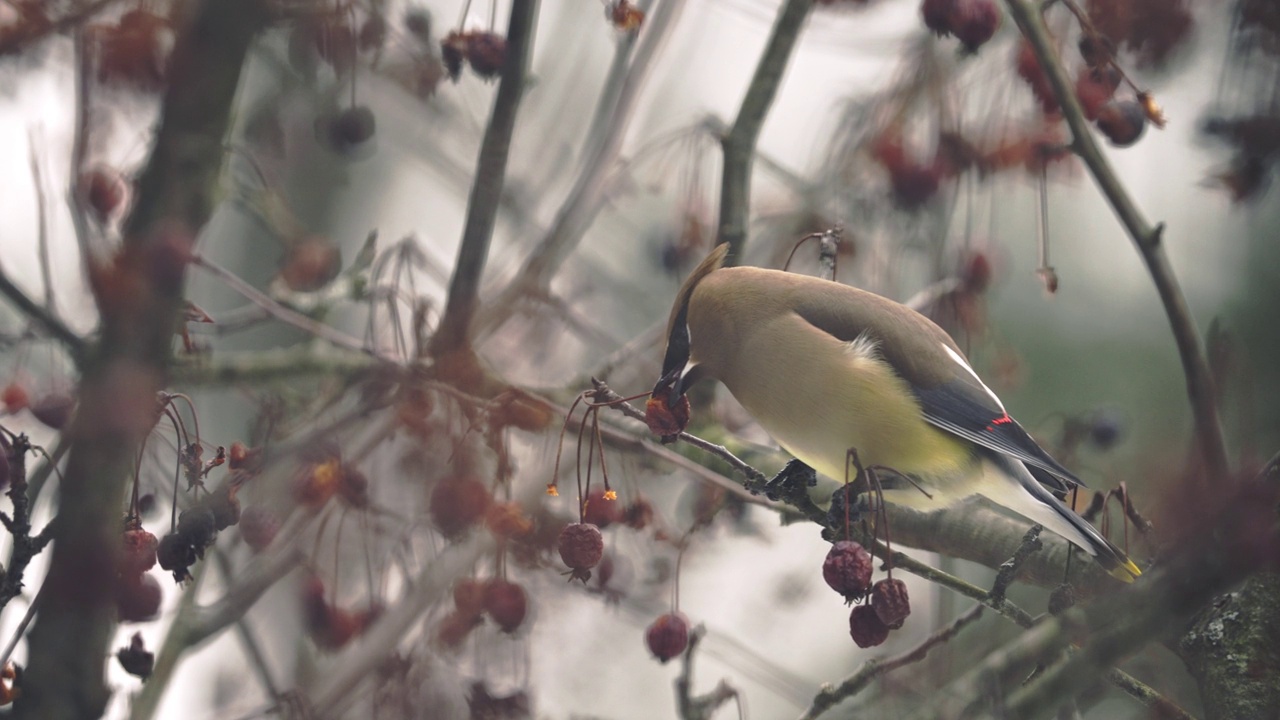
[[[1080,484],[1018,424],[938,325],[846,284],[762,268],[722,268],[712,251],[676,296],[655,397],[701,378],[733,397],[791,455],[831,479],[849,450],[919,484],[884,500],[938,510],[973,495],[1039,523],[1116,578],[1140,571],[1044,486]],[[1043,483],[1043,484],[1042,484]]]

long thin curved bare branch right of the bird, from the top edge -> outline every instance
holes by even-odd
[[[1222,425],[1219,420],[1217,404],[1213,396],[1213,380],[1204,360],[1201,347],[1199,333],[1187,306],[1187,299],[1178,284],[1169,258],[1164,247],[1164,224],[1152,225],[1142,215],[1137,204],[1129,196],[1124,184],[1116,177],[1111,164],[1098,149],[1097,140],[1089,131],[1088,120],[1084,119],[1084,110],[1075,95],[1075,85],[1068,77],[1062,63],[1053,49],[1044,18],[1041,15],[1038,5],[1030,0],[1005,0],[1009,12],[1018,22],[1023,35],[1036,51],[1036,58],[1048,77],[1053,94],[1062,108],[1066,124],[1071,128],[1073,149],[1084,160],[1089,173],[1111,204],[1120,223],[1133,238],[1138,252],[1142,255],[1151,273],[1151,279],[1156,284],[1156,292],[1165,306],[1169,324],[1174,332],[1174,341],[1178,343],[1178,354],[1183,361],[1183,373],[1187,375],[1187,392],[1190,397],[1192,411],[1196,419],[1196,437],[1201,455],[1208,469],[1210,483],[1220,483],[1228,479],[1226,446],[1222,441]]]

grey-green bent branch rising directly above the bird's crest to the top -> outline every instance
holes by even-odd
[[[733,127],[721,138],[724,170],[721,181],[719,232],[716,243],[728,243],[728,261],[737,263],[746,245],[746,224],[751,205],[751,161],[764,118],[782,85],[791,51],[800,38],[813,0],[786,0],[773,23],[764,54],[755,67]]]

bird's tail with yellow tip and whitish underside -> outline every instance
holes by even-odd
[[[1129,560],[1123,550],[1102,537],[1093,525],[1088,524],[1069,507],[1059,502],[1036,478],[1027,471],[1027,466],[1020,461],[992,452],[987,455],[988,462],[993,464],[1002,475],[1016,482],[1018,488],[1002,488],[998,495],[992,493],[992,501],[1002,505],[1028,520],[1044,525],[1046,529],[1066,538],[1071,544],[1088,552],[1102,565],[1107,573],[1119,580],[1132,583],[1134,578],[1142,575],[1142,570]],[[992,483],[984,483],[991,487]],[[1020,492],[1019,492],[1020,491]],[[986,492],[983,495],[987,495]],[[995,496],[995,497],[992,497]]]

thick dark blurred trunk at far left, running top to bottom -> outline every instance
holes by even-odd
[[[138,445],[151,429],[132,398],[164,384],[183,293],[184,241],[209,219],[244,54],[266,20],[265,0],[206,1],[178,29],[169,86],[120,263],[104,273],[136,295],[102,306],[102,336],[83,366],[74,446],[59,488],[56,542],[28,643],[14,717],[102,715],[102,659],[115,629],[120,511]],[[100,301],[102,299],[100,297]],[[133,382],[122,382],[129,378]]]

